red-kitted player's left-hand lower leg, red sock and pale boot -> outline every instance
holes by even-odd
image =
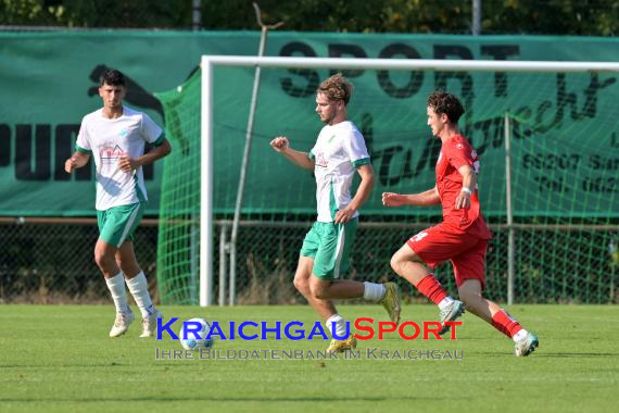
[[[445,334],[451,326],[445,322],[453,322],[465,312],[462,301],[454,300],[443,289],[441,284],[432,275],[432,271],[426,265],[424,260],[413,251],[408,245],[402,246],[391,258],[391,267],[402,278],[410,283],[430,301],[439,305],[440,322],[443,327],[439,334]]]

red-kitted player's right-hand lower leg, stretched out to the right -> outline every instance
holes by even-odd
[[[520,323],[498,304],[482,296],[481,283],[478,279],[465,280],[458,292],[468,311],[514,340],[517,356],[529,355],[540,346],[538,336],[523,329]]]

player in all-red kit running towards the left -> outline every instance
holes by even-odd
[[[485,299],[485,252],[492,234],[481,214],[477,189],[479,159],[459,134],[457,122],[464,113],[451,93],[435,91],[428,97],[428,126],[441,139],[437,162],[437,185],[425,192],[382,193],[386,206],[434,205],[443,208],[443,222],[413,236],[391,258],[391,267],[439,305],[441,323],[455,321],[468,311],[511,338],[516,355],[529,355],[539,338],[523,329],[498,304]],[[460,299],[447,295],[430,268],[451,261]],[[440,334],[450,329],[443,324]]]

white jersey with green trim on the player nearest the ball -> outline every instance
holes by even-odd
[[[336,212],[351,202],[356,168],[369,164],[364,137],[350,121],[326,125],[308,155],[316,162],[317,221],[333,222]]]

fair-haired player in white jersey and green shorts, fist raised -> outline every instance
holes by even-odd
[[[394,283],[341,278],[349,267],[358,209],[369,197],[375,180],[364,137],[348,121],[346,105],[351,93],[352,85],[341,74],[320,84],[316,91],[316,113],[326,125],[310,152],[292,149],[283,136],[270,141],[273,149],[295,165],[313,170],[316,176],[318,217],[303,240],[294,287],[327,321],[333,337],[328,350],[338,352],[355,348],[356,338],[352,331],[345,338],[345,321],[338,314],[333,299],[363,297],[380,301],[391,321],[400,322],[400,297]],[[361,184],[351,197],[355,173],[361,176]]]

